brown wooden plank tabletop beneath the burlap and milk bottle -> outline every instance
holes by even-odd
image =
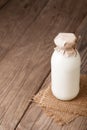
[[[50,81],[59,32],[82,36],[87,73],[87,0],[10,0],[0,9],[0,130],[87,130],[87,117],[58,126],[32,102]]]

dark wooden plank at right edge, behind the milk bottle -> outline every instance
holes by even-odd
[[[87,16],[82,21],[81,25],[77,29],[77,35],[81,36],[81,40],[78,45],[78,50],[81,55],[81,73],[87,74]]]

